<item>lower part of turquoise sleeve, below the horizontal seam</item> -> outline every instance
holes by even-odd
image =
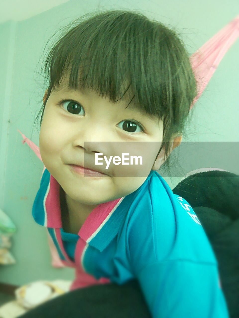
[[[155,262],[136,275],[153,318],[228,318],[217,266]]]

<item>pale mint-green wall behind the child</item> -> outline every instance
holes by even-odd
[[[97,9],[98,5],[101,9],[140,10],[148,17],[156,17],[165,24],[175,25],[190,53],[195,52],[236,14],[239,14],[238,0],[230,0],[230,5],[226,2],[219,5],[217,0],[210,2],[201,0],[196,3],[190,0],[127,3],[125,1],[99,3],[93,0],[86,3],[71,0],[25,21],[18,23],[10,21],[0,25],[0,96],[4,106],[0,107],[0,140],[4,145],[0,158],[0,176],[2,176],[0,182],[3,189],[0,207],[11,217],[18,229],[12,238],[11,248],[17,263],[1,266],[0,282],[22,285],[39,279],[73,279],[72,269],[56,269],[50,265],[45,229],[37,225],[31,216],[43,165],[32,150],[26,144],[22,144],[22,137],[17,129],[35,144],[39,144],[38,131],[32,134],[32,129],[33,120],[39,111],[46,88],[38,74],[41,65],[38,62],[43,48],[54,31],[84,13]],[[9,61],[12,47],[14,56]],[[239,39],[226,53],[195,105],[193,120],[189,127],[191,135],[185,141],[238,142],[238,52]],[[8,69],[12,74],[7,74]],[[6,99],[7,87],[11,88],[11,94],[7,93]],[[9,110],[4,115],[5,107],[9,107]],[[6,123],[9,119],[11,122]],[[205,145],[206,148],[210,146],[209,143]],[[193,159],[197,157],[198,150],[192,148],[191,155],[192,159],[188,160],[190,157],[184,152],[180,162],[185,166],[188,160],[185,169],[189,171],[199,168],[200,164],[196,163],[195,167],[196,161]],[[228,160],[223,161],[222,164],[216,162],[220,156],[221,152],[214,153],[212,165],[231,170],[232,163],[228,163]],[[230,157],[235,157],[235,151],[232,151]],[[165,180],[170,187],[173,187],[178,177],[175,178],[174,183],[170,183],[167,177]]]

